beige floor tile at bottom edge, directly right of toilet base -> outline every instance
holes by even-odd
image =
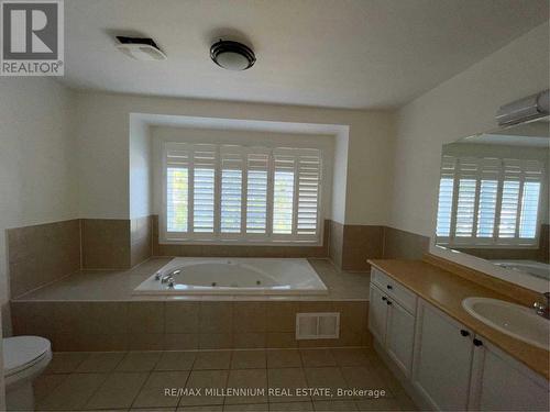
[[[106,379],[107,375],[103,374],[72,374],[43,401],[38,402],[36,409],[41,411],[81,410]]]

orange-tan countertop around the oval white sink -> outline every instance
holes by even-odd
[[[369,263],[537,374],[550,379],[550,352],[498,332],[476,320],[462,308],[462,300],[469,297],[519,302],[426,261],[372,259]]]

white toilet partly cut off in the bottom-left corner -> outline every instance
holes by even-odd
[[[33,381],[52,360],[52,345],[40,336],[2,339],[8,410],[33,410]]]

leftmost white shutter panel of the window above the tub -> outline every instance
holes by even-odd
[[[189,164],[187,145],[166,147],[166,231],[187,232],[189,216]]]

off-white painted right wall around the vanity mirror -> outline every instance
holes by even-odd
[[[548,34],[536,27],[398,111],[391,226],[432,235],[441,146],[494,129],[499,105],[549,87]]]

